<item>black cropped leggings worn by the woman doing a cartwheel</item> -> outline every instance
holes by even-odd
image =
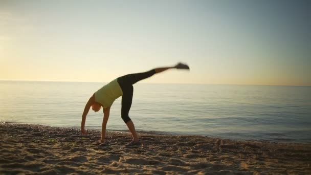
[[[132,105],[132,98],[133,98],[133,84],[137,83],[140,80],[145,78],[151,77],[154,75],[156,71],[154,69],[137,74],[128,74],[117,79],[123,95],[122,95],[122,107],[121,107],[121,118],[125,123],[130,121],[128,116],[130,106]]]

